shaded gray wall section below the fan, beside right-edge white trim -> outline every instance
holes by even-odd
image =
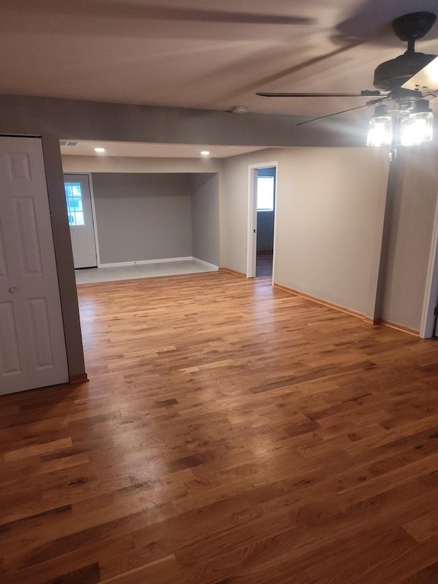
[[[437,204],[437,160],[437,148],[426,146],[400,148],[391,162],[381,315],[415,330],[420,329]]]

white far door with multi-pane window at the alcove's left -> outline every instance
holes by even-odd
[[[64,175],[64,187],[75,268],[95,268],[96,240],[88,175]]]

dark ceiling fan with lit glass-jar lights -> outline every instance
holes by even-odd
[[[387,101],[394,101],[394,110],[409,112],[411,110],[428,110],[428,97],[437,97],[438,57],[415,51],[415,40],[430,31],[437,16],[432,12],[413,12],[396,18],[392,27],[400,40],[407,41],[407,51],[402,55],[378,65],[374,71],[373,85],[376,90],[362,90],[359,93],[288,93],[257,92],[262,97],[373,97],[363,105],[350,107],[348,110],[320,116],[300,122],[297,125],[322,120],[368,105],[378,105],[383,112]],[[433,75],[435,71],[435,75]],[[426,106],[424,103],[426,102]],[[430,111],[430,110],[428,110]]]

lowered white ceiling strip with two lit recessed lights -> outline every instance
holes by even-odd
[[[127,156],[158,158],[202,158],[201,151],[209,151],[209,158],[227,158],[246,152],[254,152],[256,146],[209,146],[208,144],[146,144],[139,142],[94,142],[80,140],[73,142],[77,146],[62,146],[62,155],[79,156]],[[104,153],[94,152],[94,148],[105,148]]]

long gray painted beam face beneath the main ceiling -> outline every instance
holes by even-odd
[[[170,144],[255,146],[357,146],[368,119],[337,118],[296,126],[302,118],[276,114],[235,115],[122,103],[0,95],[1,131],[50,132],[72,140],[120,140]],[[357,123],[357,120],[356,120]]]

